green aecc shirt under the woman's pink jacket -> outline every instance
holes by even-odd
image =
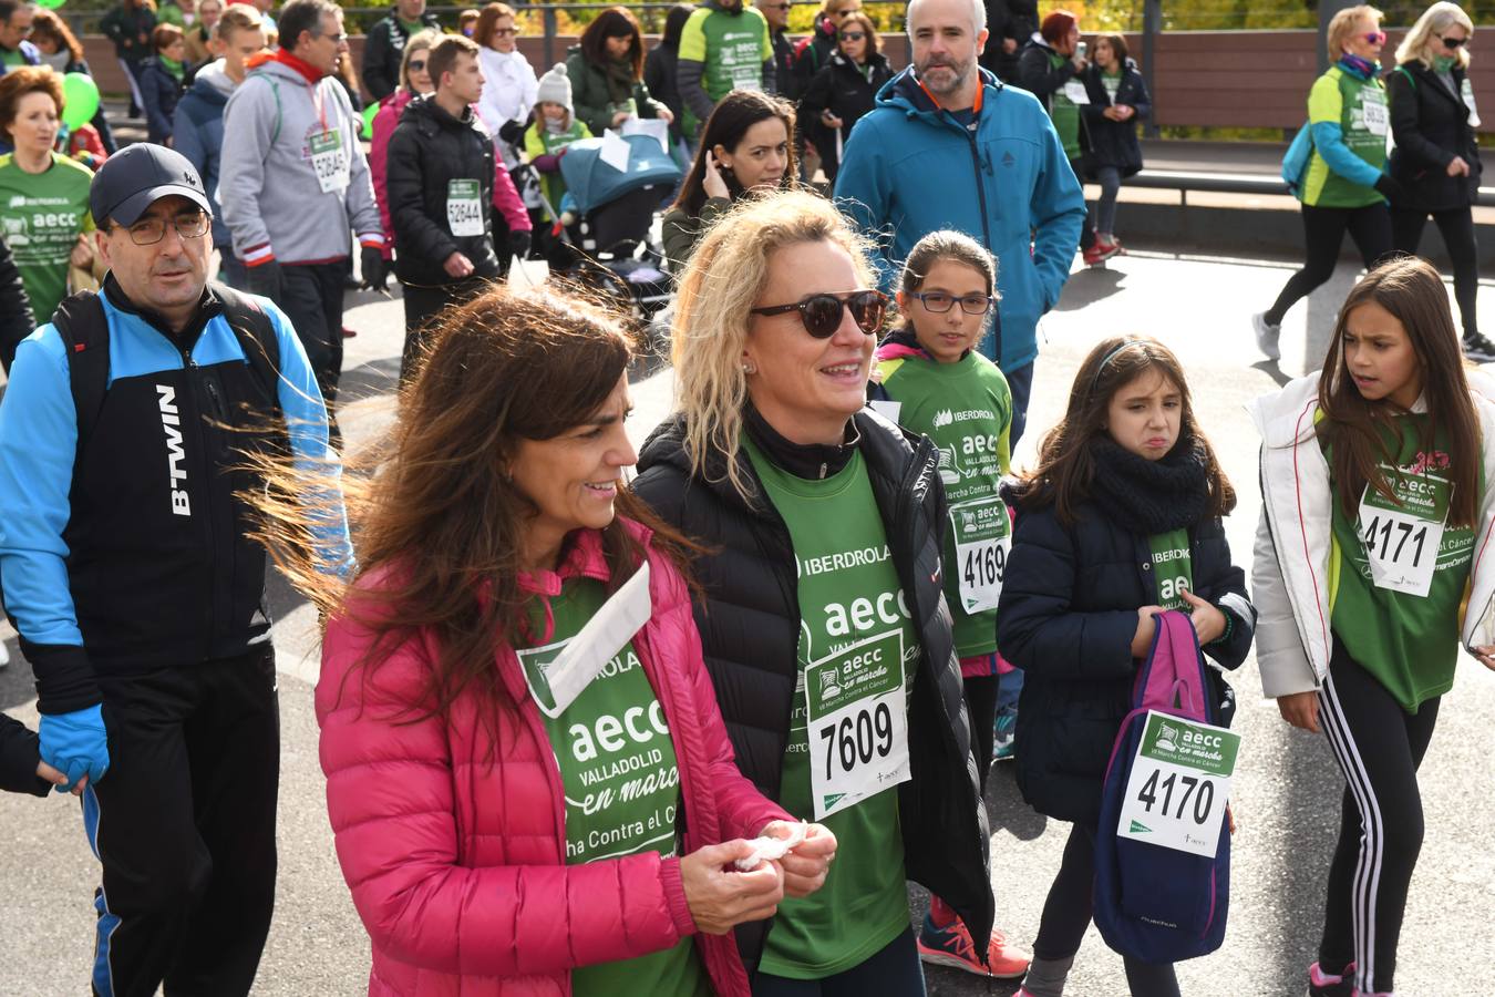
[[[519,650],[537,703],[552,704],[544,673],[607,601],[595,578],[574,578],[550,599],[555,631],[543,647]],[[543,610],[534,611],[544,620]],[[565,788],[567,865],[658,852],[677,852],[680,771],[664,709],[629,641],[559,717],[544,717]],[[619,963],[571,972],[577,997],[712,993],[691,939]]]

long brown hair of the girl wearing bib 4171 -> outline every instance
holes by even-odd
[[[1449,433],[1449,474],[1455,483],[1449,522],[1474,526],[1480,510],[1479,416],[1464,377],[1464,356],[1449,311],[1449,293],[1438,271],[1411,256],[1381,263],[1344,299],[1319,378],[1319,408],[1323,411],[1319,435],[1331,444],[1334,480],[1344,514],[1354,519],[1366,483],[1387,499],[1395,499],[1380,465],[1396,463],[1386,448],[1383,432],[1402,410],[1384,399],[1366,401],[1354,387],[1344,359],[1350,314],[1372,302],[1396,317],[1417,354],[1422,393],[1428,402],[1423,448],[1432,451],[1440,426]]]

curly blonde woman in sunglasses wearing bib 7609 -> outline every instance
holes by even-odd
[[[875,287],[830,202],[739,202],[682,275],[680,410],[638,465],[637,493],[707,552],[695,619],[739,768],[842,855],[819,898],[739,934],[755,997],[806,981],[922,994],[906,877],[961,915],[976,951],[991,931],[937,453],[864,408]]]

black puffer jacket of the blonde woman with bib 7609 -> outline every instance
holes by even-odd
[[[898,786],[904,867],[909,879],[928,886],[964,918],[976,951],[985,952],[994,918],[987,815],[940,584],[946,508],[939,451],[928,439],[904,435],[870,410],[858,413],[854,426],[924,650],[909,697],[913,777]],[[782,438],[779,445],[792,447]],[[762,495],[746,453],[739,453],[737,465],[753,493]],[[653,432],[638,468],[634,490],[665,522],[709,546],[709,553],[692,565],[701,584],[695,622],[706,667],[737,767],[764,795],[777,800],[798,676],[800,604],[789,529],[771,504],[749,502],[733,489],[721,454],[706,462],[703,475],[691,472],[679,416]],[[749,970],[758,963],[767,930],[768,924],[753,924],[737,931]]]

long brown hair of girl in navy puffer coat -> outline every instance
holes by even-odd
[[[1018,504],[1023,508],[1055,505],[1058,520],[1075,523],[1075,511],[1090,498],[1096,478],[1096,463],[1090,441],[1106,433],[1106,413],[1111,399],[1123,387],[1156,371],[1178,389],[1178,447],[1197,447],[1205,460],[1209,489],[1206,516],[1227,516],[1235,508],[1235,489],[1220,468],[1214,448],[1195,420],[1195,404],[1189,395],[1184,368],[1174,351],[1151,336],[1112,336],[1096,344],[1079,365],[1075,384],[1069,390],[1069,407],[1058,425],[1039,444],[1038,468],[1023,475]]]

